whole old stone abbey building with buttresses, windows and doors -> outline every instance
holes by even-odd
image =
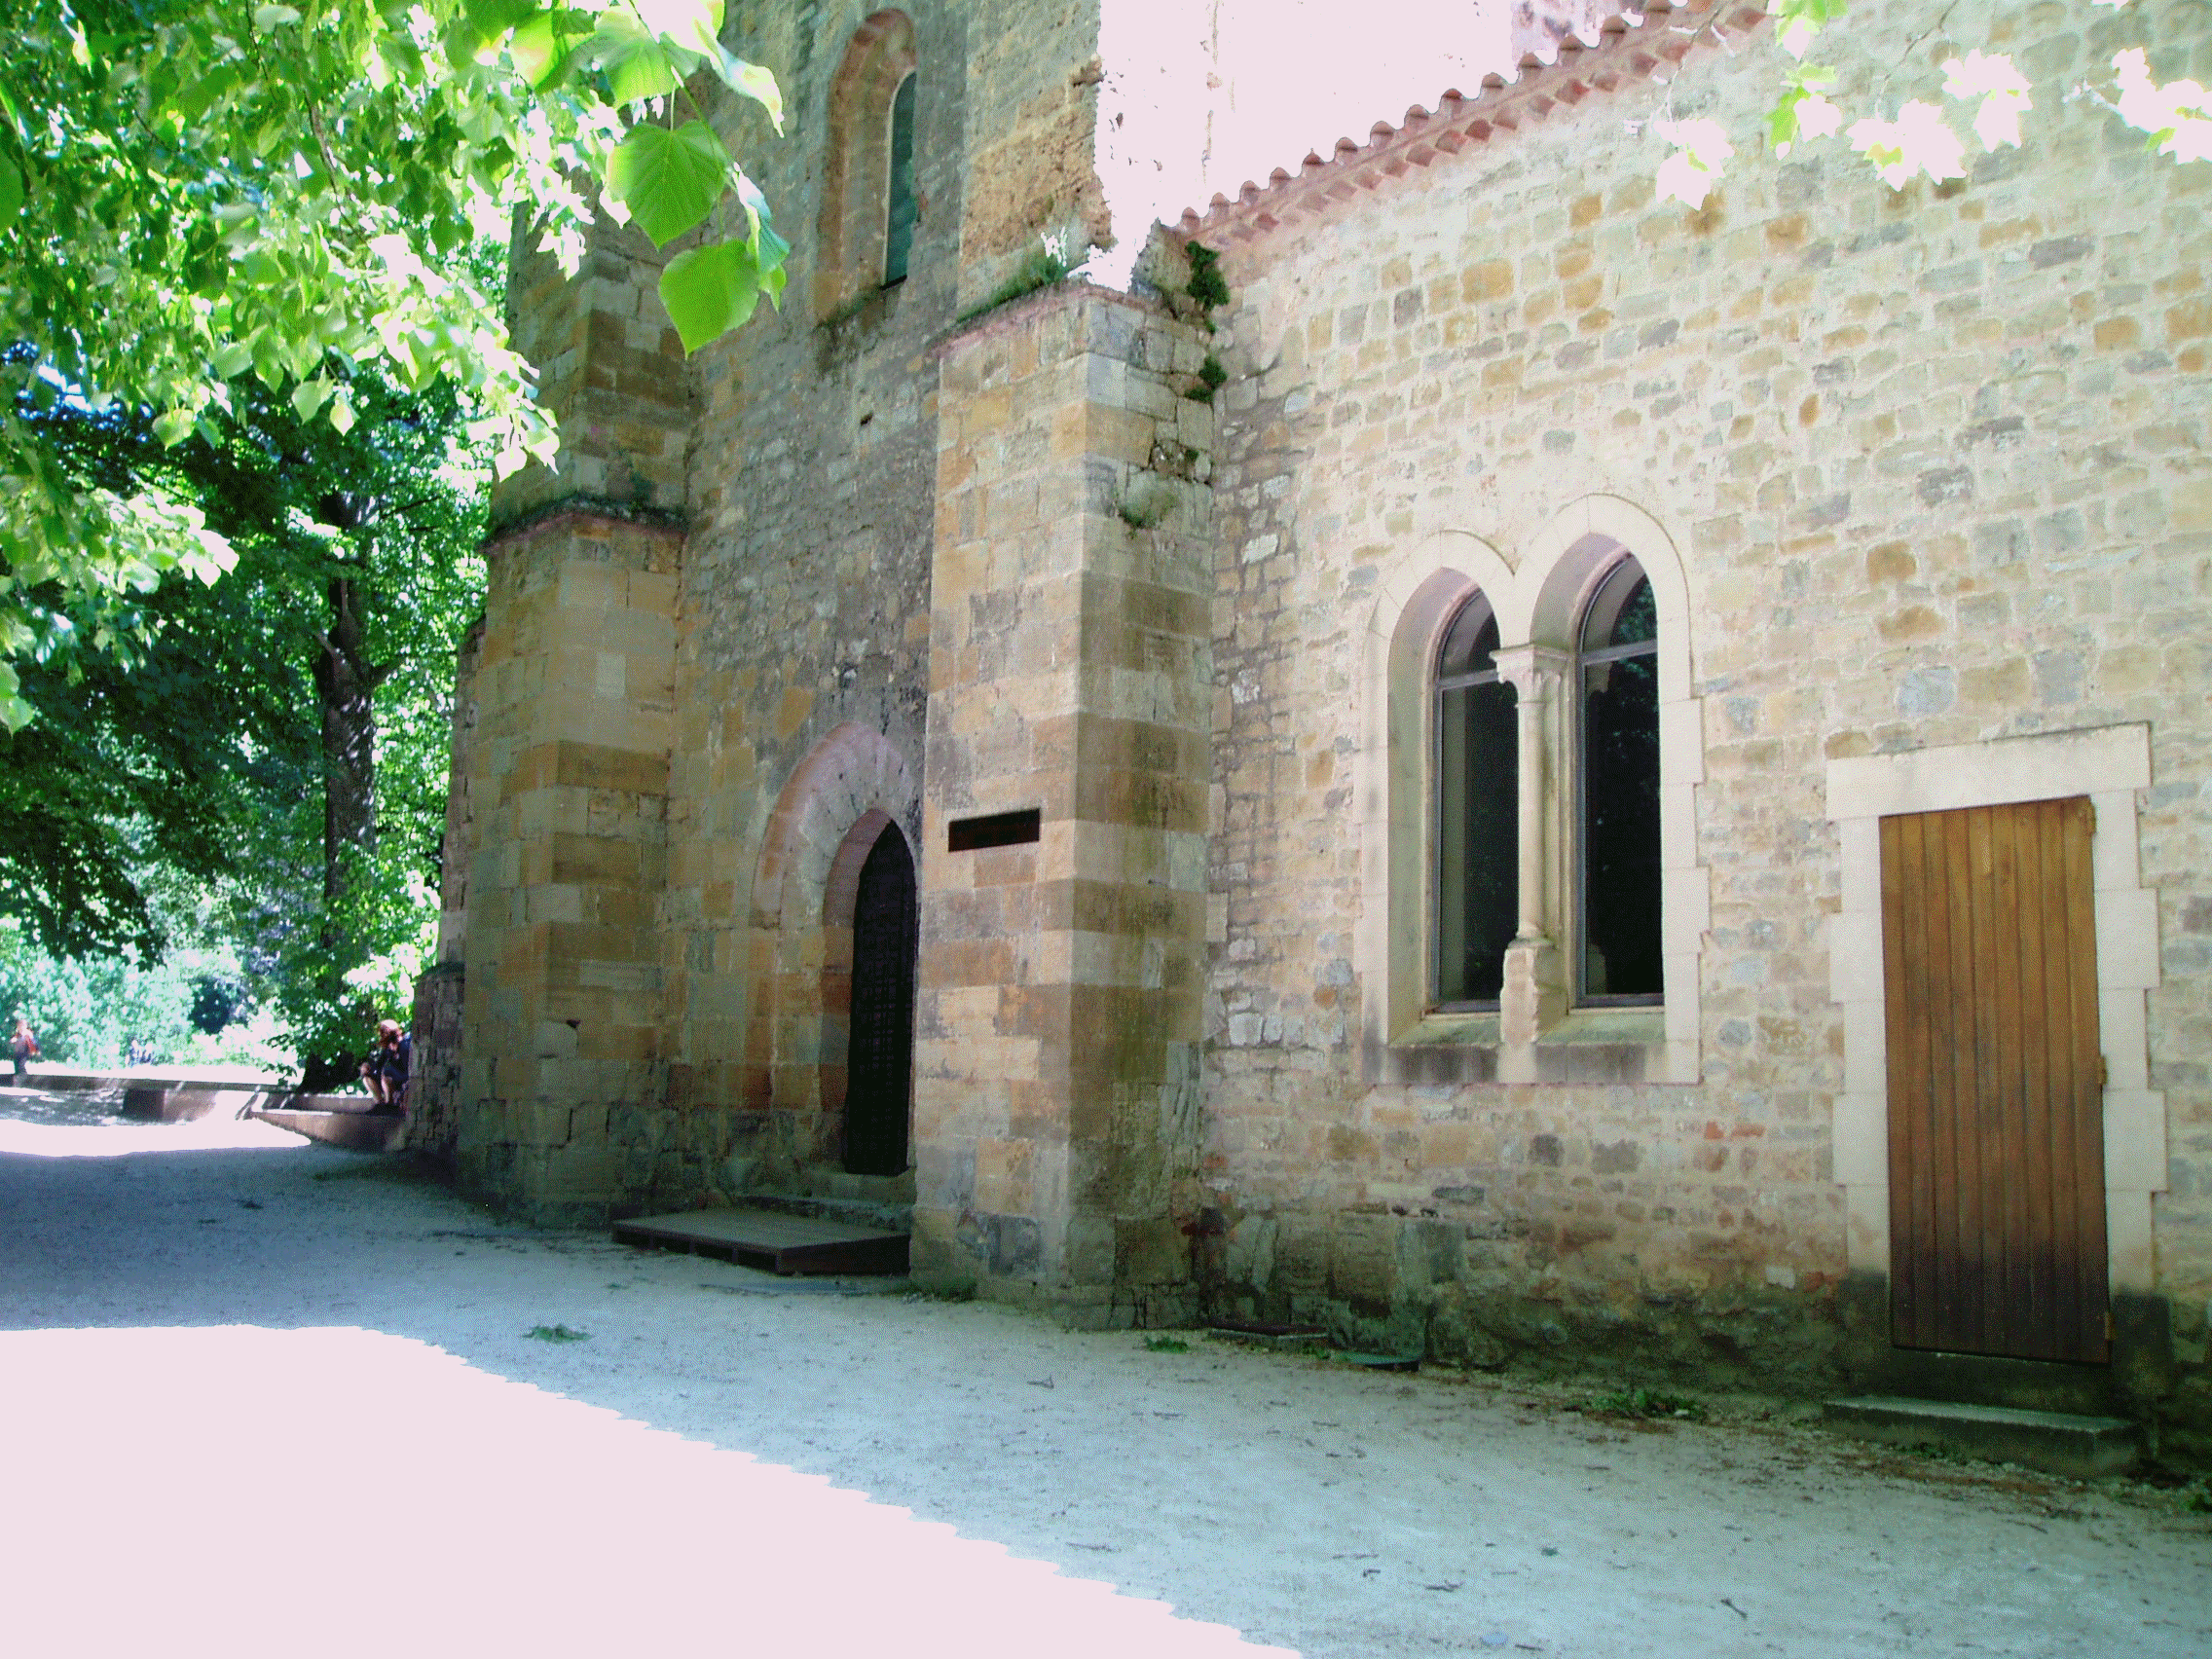
[[[2212,1449],[2212,166],[2066,97],[2124,31],[2212,80],[2212,9],[1854,9],[1840,100],[2011,51],[2024,146],[1694,212],[1650,124],[1759,131],[1756,7],[1522,7],[1228,177],[1279,11],[741,7],[781,314],[686,361],[666,254],[518,254],[564,449],[418,1146],[911,1206],[1095,1323]]]

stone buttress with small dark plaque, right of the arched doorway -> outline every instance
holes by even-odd
[[[1088,288],[945,347],[914,1261],[1102,1323],[1179,1305],[1197,1212],[1203,352]],[[1024,807],[1037,843],[947,849]]]

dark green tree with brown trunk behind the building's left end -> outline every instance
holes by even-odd
[[[358,374],[347,396],[341,434],[248,385],[175,447],[117,407],[31,418],[71,480],[190,502],[237,575],[146,595],[131,668],[24,664],[38,719],[0,737],[0,911],[49,956],[153,962],[164,914],[217,894],[201,931],[319,1086],[405,1013],[436,925],[453,657],[484,582],[489,467],[456,394]]]

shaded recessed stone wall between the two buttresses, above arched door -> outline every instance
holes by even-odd
[[[690,363],[701,414],[688,458],[659,911],[672,1073],[653,1133],[692,1148],[692,1194],[790,1190],[836,1161],[836,1124],[821,1124],[818,1048],[794,1055],[790,1042],[781,1053],[770,1042],[763,1053],[748,1042],[772,989],[761,969],[779,956],[754,916],[779,796],[847,723],[878,732],[920,774],[936,471],[925,354],[953,319],[969,71],[956,9],[907,11],[920,208],[907,281],[867,283],[858,305],[816,321],[799,296],[814,288],[818,250],[801,239],[783,312],[763,307]],[[783,80],[787,135],[757,124],[737,137],[779,217],[796,226],[821,212],[832,77],[867,15],[860,4],[759,7],[732,42]],[[909,814],[902,832],[918,827]],[[812,905],[818,933],[821,894]],[[794,900],[790,920],[803,911]]]

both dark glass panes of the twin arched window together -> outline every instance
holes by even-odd
[[[1473,593],[1436,657],[1436,984],[1444,1009],[1498,1006],[1506,949],[1540,905],[1522,891],[1524,823],[1573,825],[1566,863],[1573,998],[1657,1004],[1661,973],[1659,619],[1632,555],[1590,586],[1566,664],[1559,812],[1522,814],[1517,695],[1498,672],[1498,617]],[[1540,876],[1535,876],[1540,880]],[[1562,940],[1562,945],[1566,945]]]

